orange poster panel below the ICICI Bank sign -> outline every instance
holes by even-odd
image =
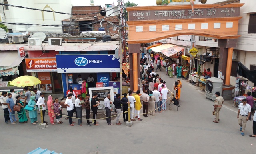
[[[41,92],[52,92],[52,80],[50,72],[38,72],[38,79],[41,81]]]

